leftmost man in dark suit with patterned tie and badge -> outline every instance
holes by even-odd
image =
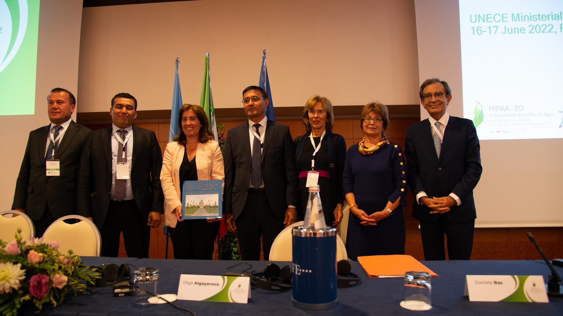
[[[52,89],[47,97],[51,124],[29,133],[12,209],[33,220],[37,237],[43,236],[55,219],[77,214],[78,166],[84,139],[91,130],[70,119],[75,109],[76,99],[70,91]],[[46,164],[50,164],[48,171]]]

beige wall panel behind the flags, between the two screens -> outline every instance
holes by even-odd
[[[107,111],[118,92],[140,110],[169,109],[174,61],[182,100],[199,103],[211,54],[215,107],[239,107],[267,49],[274,105],[313,94],[334,105],[418,104],[412,0],[206,0],[84,8],[80,112]]]

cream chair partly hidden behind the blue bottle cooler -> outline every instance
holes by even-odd
[[[294,223],[285,227],[283,231],[278,234],[278,237],[272,243],[270,250],[270,261],[292,261],[293,260],[293,238],[292,230],[294,227],[302,226],[303,221]],[[348,259],[348,254],[346,253],[346,247],[340,239],[340,236],[336,235],[336,260],[340,261],[342,259]]]

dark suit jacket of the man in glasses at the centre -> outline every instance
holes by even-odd
[[[252,171],[252,154],[248,121],[232,128],[225,144],[224,213],[236,220],[248,196]],[[288,205],[297,206],[297,172],[293,141],[289,127],[275,121],[266,123],[262,147],[262,179],[270,207],[278,218],[284,218]]]

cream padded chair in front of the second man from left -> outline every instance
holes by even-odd
[[[66,219],[80,219],[81,222],[67,224]],[[89,219],[80,215],[66,215],[55,220],[43,234],[43,241],[59,242],[59,251],[67,254],[72,250],[79,256],[100,256],[100,231]]]

